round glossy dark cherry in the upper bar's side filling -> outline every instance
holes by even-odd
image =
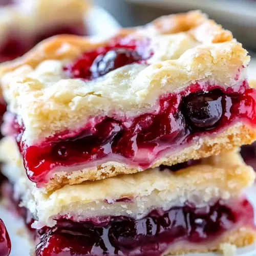
[[[193,126],[209,129],[221,119],[222,92],[191,93],[183,99],[184,115]]]

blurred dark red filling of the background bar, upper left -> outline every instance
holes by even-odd
[[[41,40],[58,34],[86,35],[87,32],[83,24],[52,26],[51,28],[45,28],[42,32],[36,31],[33,34],[24,34],[15,29],[10,29],[10,33],[0,45],[0,62],[22,56]]]

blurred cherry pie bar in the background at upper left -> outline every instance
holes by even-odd
[[[86,35],[86,0],[0,1],[0,62],[22,56],[57,34]]]

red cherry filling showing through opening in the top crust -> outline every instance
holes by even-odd
[[[127,42],[114,38],[109,45],[84,53],[64,70],[71,78],[94,79],[125,65],[145,62],[152,55],[147,45],[148,40]]]

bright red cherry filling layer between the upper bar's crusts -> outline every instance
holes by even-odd
[[[188,145],[199,136],[219,132],[241,120],[255,125],[255,99],[256,93],[246,81],[229,88],[196,83],[162,96],[158,111],[126,120],[99,117],[76,136],[66,131],[28,146],[22,140],[24,127],[14,120],[14,128],[9,130],[16,131],[28,177],[37,186],[44,186],[56,167],[93,166],[95,160],[99,163],[108,158],[145,169],[165,152]]]

